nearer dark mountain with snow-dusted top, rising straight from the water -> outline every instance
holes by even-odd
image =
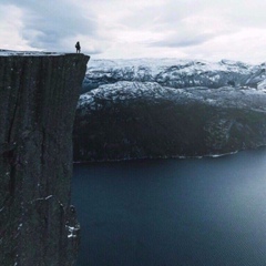
[[[81,95],[74,160],[202,156],[266,144],[266,93],[116,82]]]

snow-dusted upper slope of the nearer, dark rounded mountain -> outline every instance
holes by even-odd
[[[173,102],[187,103],[196,100],[209,105],[221,106],[250,106],[266,112],[266,94],[264,91],[248,88],[233,89],[223,86],[219,89],[209,89],[205,86],[173,89],[157,84],[156,82],[130,82],[120,81],[114,84],[101,85],[80,96],[78,109],[86,108],[100,110],[104,108],[105,102],[125,102],[132,100],[146,99],[151,102],[158,100],[168,100]],[[102,103],[101,103],[102,102]]]

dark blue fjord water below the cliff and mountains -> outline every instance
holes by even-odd
[[[266,265],[266,150],[75,165],[78,266]]]

